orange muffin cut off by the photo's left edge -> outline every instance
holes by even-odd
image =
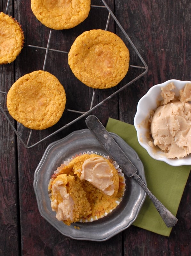
[[[0,64],[11,63],[20,54],[24,44],[24,33],[11,16],[0,12]]]

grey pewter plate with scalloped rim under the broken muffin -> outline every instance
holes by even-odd
[[[137,153],[118,135],[115,133],[111,133],[111,135],[129,156],[131,162],[136,166],[138,174],[146,183],[144,167]],[[51,209],[47,190],[51,175],[64,160],[87,151],[107,155],[105,149],[88,129],[72,132],[67,137],[51,143],[36,168],[33,185],[40,214],[61,234],[78,240],[105,241],[133,223],[145,200],[146,193],[133,178],[125,177],[126,190],[123,200],[107,216],[88,223],[72,223],[70,226],[58,221],[55,217],[56,213]]]

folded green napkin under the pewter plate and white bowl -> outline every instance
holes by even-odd
[[[150,157],[140,146],[134,125],[109,118],[106,129],[119,135],[137,152],[144,165],[147,187],[176,216],[191,166],[174,167]],[[166,227],[148,196],[133,225],[163,236],[170,236],[172,229]]]

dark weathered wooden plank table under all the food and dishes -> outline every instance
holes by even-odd
[[[67,109],[88,111],[92,91],[73,76],[68,67],[67,54],[49,50],[44,66],[50,29],[36,20],[30,1],[10,2],[8,14],[22,25],[25,44],[13,63],[0,66],[0,91],[7,92],[20,76],[44,67],[44,70],[57,76],[64,85]],[[6,4],[6,0],[0,1],[0,11],[6,12]],[[95,108],[92,114],[104,125],[109,117],[133,124],[137,103],[151,86],[169,79],[191,80],[191,2],[107,0],[107,4],[147,63],[148,72]],[[92,5],[103,4],[94,0]],[[108,13],[106,14],[104,8],[92,9],[91,17],[76,28],[53,30],[49,48],[68,52],[76,36],[84,30],[105,29]],[[112,20],[108,30],[123,37]],[[139,58],[134,53],[131,54],[130,64],[139,64]],[[96,91],[95,104],[106,98],[108,93],[115,92],[117,88],[131,81],[136,72],[130,68],[128,76],[119,86],[107,92]],[[0,97],[1,106],[8,114],[5,108],[6,94],[1,93]],[[30,143],[36,143],[78,116],[77,113],[67,111],[55,127],[34,132]],[[11,122],[22,138],[28,137],[27,129],[12,119]],[[85,117],[28,149],[23,146],[4,114],[0,112],[0,255],[191,255],[191,176],[179,205],[179,221],[172,229],[170,237],[131,226],[104,242],[79,241],[61,235],[41,217],[33,190],[33,179],[44,150],[51,142],[84,128]]]

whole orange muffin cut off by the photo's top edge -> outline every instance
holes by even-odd
[[[52,29],[73,28],[89,15],[91,0],[31,0],[31,9],[42,24]]]

